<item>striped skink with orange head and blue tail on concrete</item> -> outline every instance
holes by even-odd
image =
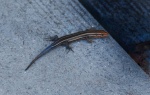
[[[51,45],[49,45],[46,49],[44,49],[39,55],[37,55],[32,62],[28,65],[28,67],[25,69],[28,70],[29,67],[41,56],[45,55],[49,51],[55,49],[58,46],[66,46],[66,49],[72,50],[69,44],[71,42],[83,39],[87,40],[88,42],[91,42],[91,39],[93,38],[104,38],[108,36],[108,32],[104,30],[96,30],[96,29],[87,29],[85,31],[79,31],[77,33],[69,34],[66,36],[62,36],[58,38],[57,36],[53,38],[54,41]]]

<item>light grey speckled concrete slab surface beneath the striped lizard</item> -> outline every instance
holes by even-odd
[[[149,77],[111,36],[58,47],[24,71],[51,42],[102,29],[76,0],[0,0],[0,95],[150,95]]]

